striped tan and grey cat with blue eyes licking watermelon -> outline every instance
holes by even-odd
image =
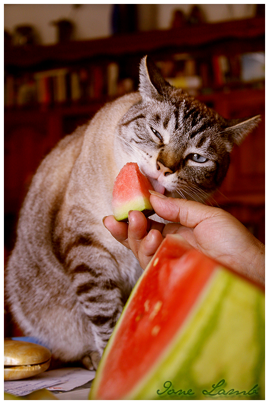
[[[224,119],[169,85],[145,56],[138,91],[61,140],[33,177],[6,274],[23,333],[54,358],[96,369],[142,274],[102,224],[120,168],[136,162],[156,191],[204,200],[221,185],[234,143],[259,119]]]

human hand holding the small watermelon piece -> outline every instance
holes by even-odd
[[[234,216],[219,208],[186,199],[150,197],[156,214],[174,223],[129,213],[129,224],[107,216],[103,222],[112,236],[130,248],[144,269],[168,233],[178,233],[205,255],[229,266],[249,279],[265,284],[265,246]]]

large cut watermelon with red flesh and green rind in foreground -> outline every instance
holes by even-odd
[[[134,286],[91,400],[265,397],[264,290],[168,235]]]

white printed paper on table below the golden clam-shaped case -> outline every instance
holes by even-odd
[[[82,368],[55,369],[29,379],[5,381],[4,391],[15,396],[25,396],[32,391],[48,387],[50,390],[69,391],[93,380],[94,377],[94,371]]]

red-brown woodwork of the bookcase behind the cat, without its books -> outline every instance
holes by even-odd
[[[7,105],[11,103],[12,106],[7,106],[4,113],[4,241],[7,251],[13,246],[14,229],[22,200],[42,158],[63,136],[71,133],[78,124],[88,121],[101,105],[118,94],[108,94],[106,74],[108,67],[113,66],[111,64],[116,63],[118,66],[118,91],[122,93],[123,84],[129,85],[132,82],[134,89],[137,88],[138,64],[145,54],[151,55],[155,61],[167,61],[175,54],[187,52],[199,61],[199,67],[204,67],[212,57],[218,55],[232,56],[264,50],[264,18],[138,32],[48,47],[5,48],[5,80],[8,86],[13,83],[14,77],[23,84],[29,76],[29,83],[32,83],[32,77],[35,77],[37,71],[64,69],[68,77],[75,73],[73,79],[79,73],[81,80],[88,71],[86,85],[93,83],[95,90],[99,91],[96,95],[91,88],[89,93],[86,86],[86,92],[90,94],[88,98],[84,96],[85,89],[81,89],[81,98],[75,101],[67,97],[61,102],[55,102],[54,97],[49,102],[30,102],[19,106],[12,101],[13,93],[8,93]],[[207,74],[210,75],[210,69]],[[102,86],[98,82],[100,78],[103,80]],[[46,77],[45,82],[49,85],[55,79],[51,81]],[[206,86],[206,91],[202,88],[197,96],[224,117],[262,114],[259,128],[240,147],[234,148],[231,166],[220,190],[222,193],[217,192],[215,199],[264,241],[264,82],[242,83],[236,80],[220,85],[212,79],[208,80]],[[210,91],[206,94],[208,86]],[[69,94],[70,89],[66,91]]]

